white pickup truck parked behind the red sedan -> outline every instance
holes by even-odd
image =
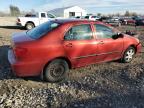
[[[25,27],[27,30],[34,28],[46,21],[55,19],[53,14],[48,14],[47,12],[39,12],[35,15],[26,15],[25,17],[18,17],[16,25]]]

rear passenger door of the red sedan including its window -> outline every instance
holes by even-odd
[[[72,26],[64,36],[64,49],[74,67],[94,63],[97,43],[90,24]]]

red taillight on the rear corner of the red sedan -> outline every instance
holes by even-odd
[[[28,54],[28,50],[26,48],[16,47],[13,50],[17,59],[26,57]]]

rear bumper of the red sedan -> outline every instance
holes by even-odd
[[[42,70],[42,66],[38,62],[17,61],[12,50],[8,51],[8,61],[13,73],[19,77],[38,76]]]

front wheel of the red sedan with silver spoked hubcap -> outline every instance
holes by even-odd
[[[134,47],[129,47],[129,48],[125,51],[125,53],[124,53],[121,61],[122,61],[123,63],[129,63],[129,62],[131,62],[131,61],[133,60],[134,55],[135,55],[135,48],[134,48]]]

